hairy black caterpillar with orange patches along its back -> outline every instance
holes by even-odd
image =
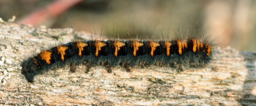
[[[123,66],[127,72],[141,66],[170,66],[178,71],[183,67],[199,68],[212,60],[212,42],[204,36],[187,36],[174,40],[89,40],[69,42],[40,52],[24,60],[22,74],[33,83],[34,77],[52,68],[70,66],[75,72],[79,64],[86,65],[86,72],[102,65],[107,72]]]

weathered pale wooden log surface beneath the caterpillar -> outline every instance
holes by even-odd
[[[89,35],[89,36],[88,36]],[[173,68],[137,68],[112,73],[101,66],[86,74],[51,70],[28,83],[20,63],[73,38],[91,37],[73,29],[33,28],[0,22],[1,105],[256,105],[255,52],[214,48],[206,68],[175,72]],[[94,39],[92,38],[92,39]]]

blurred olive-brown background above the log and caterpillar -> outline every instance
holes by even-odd
[[[177,30],[206,30],[219,46],[256,51],[253,0],[1,0],[7,21],[73,27],[111,38],[168,38]]]

